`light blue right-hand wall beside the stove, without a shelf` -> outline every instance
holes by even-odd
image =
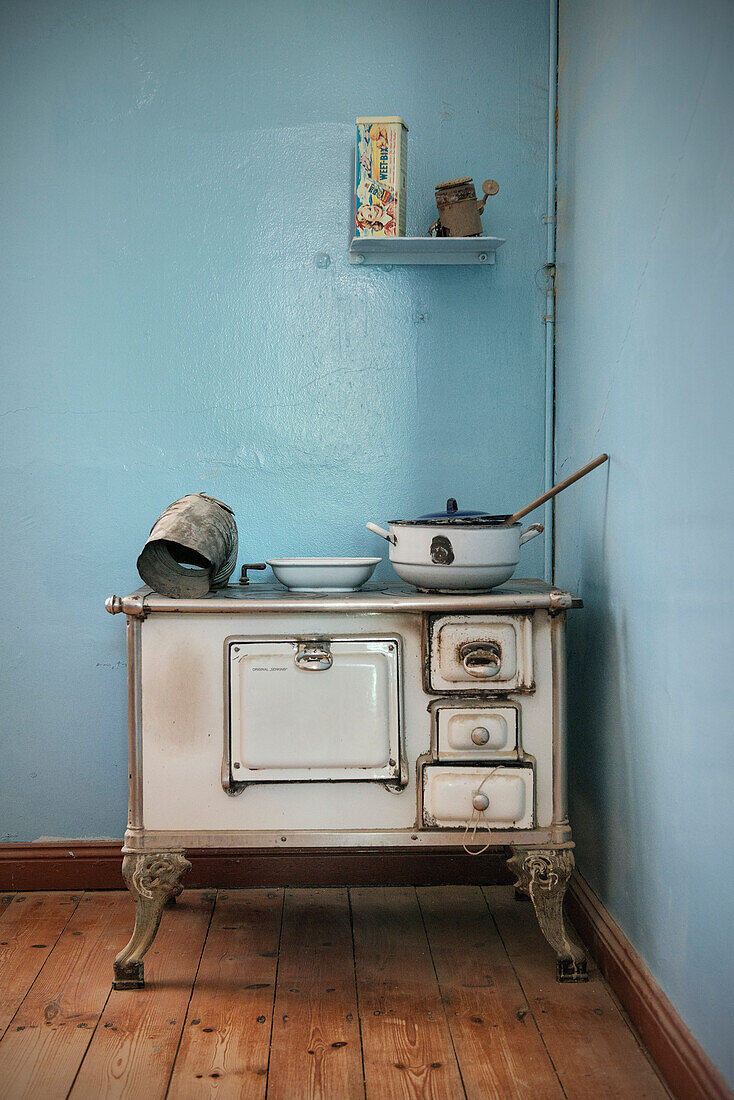
[[[734,7],[562,0],[557,505],[578,862],[734,1084]]]

